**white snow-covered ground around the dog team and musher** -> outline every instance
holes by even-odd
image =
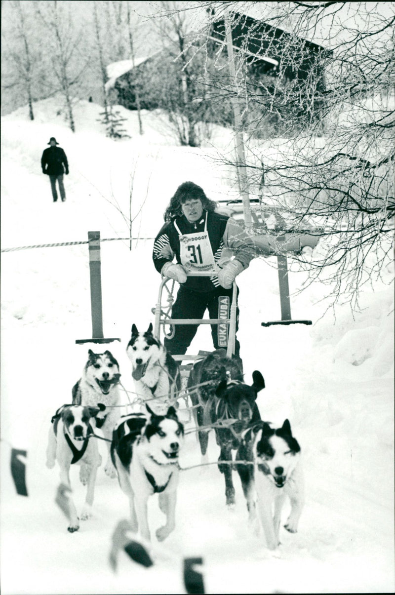
[[[76,133],[58,104],[48,99],[2,118],[2,248],[86,242],[101,231],[105,346],[120,362],[122,381],[133,392],[126,345],[131,324],[153,322],[159,275],[151,262],[152,239],[178,184],[193,180],[211,198],[233,192],[234,180],[212,161],[231,151],[224,131],[204,149],[177,146],[159,114],[122,108],[131,139],[114,142],[98,123],[101,108],[76,106]],[[67,201],[52,203],[40,157],[49,137],[65,149],[70,175]],[[133,174],[133,176],[132,176]],[[131,192],[131,177],[133,191]],[[130,193],[132,234],[129,250]],[[306,505],[299,532],[281,531],[275,553],[253,536],[238,477],[236,508],[225,507],[224,480],[217,466],[183,471],[177,524],[163,543],[153,540],[155,565],[146,569],[120,553],[118,572],[108,563],[115,526],[128,516],[126,496],[100,468],[93,518],[67,532],[55,504],[57,469],[45,466],[51,416],[70,402],[87,349],[76,339],[92,337],[89,259],[86,243],[2,253],[1,278],[1,588],[11,594],[184,593],[185,557],[203,558],[208,593],[391,593],[394,591],[394,299],[393,264],[383,283],[361,295],[361,311],[338,306],[325,314],[319,283],[291,297],[294,319],[306,325],[262,327],[280,318],[275,258],[255,259],[238,278],[242,358],[247,381],[259,369],[267,388],[258,395],[262,418],[282,424],[288,417],[302,446]],[[302,273],[290,274],[291,292]],[[372,290],[374,289],[374,291]],[[211,349],[208,327],[200,327],[191,352]],[[103,349],[104,350],[104,349]],[[123,393],[124,403],[127,402]],[[189,422],[192,427],[192,422]],[[99,443],[105,449],[104,443]],[[10,472],[11,449],[27,451],[29,496],[18,496]],[[104,451],[103,451],[104,452]],[[214,437],[209,460],[218,457]],[[200,462],[189,434],[181,466]],[[78,469],[72,482],[77,508],[84,498]],[[287,511],[284,511],[286,513]],[[151,499],[152,528],[161,524]],[[153,531],[154,534],[154,531]]]

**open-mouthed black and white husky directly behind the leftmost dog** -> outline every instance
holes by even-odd
[[[108,458],[105,465],[106,475],[114,478],[116,472],[110,456],[112,430],[121,415],[120,393],[120,367],[110,351],[93,353],[88,351],[88,360],[84,366],[81,378],[74,384],[71,394],[73,405],[97,407],[98,403],[105,405],[95,417],[96,428],[99,428],[108,440]]]

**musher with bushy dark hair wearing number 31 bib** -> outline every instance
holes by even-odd
[[[228,318],[233,281],[255,256],[252,240],[244,229],[231,217],[215,212],[216,206],[200,186],[186,181],[178,186],[165,211],[166,223],[156,236],[152,258],[162,277],[180,283],[172,318],[203,318],[206,309],[210,318]],[[174,256],[177,262],[173,262]],[[187,277],[187,271],[212,271],[212,275]],[[197,326],[175,325],[173,339],[164,340],[168,352],[186,353]],[[238,327],[239,308],[236,331]],[[227,325],[211,325],[215,349],[226,348],[227,334]],[[237,339],[234,356],[240,359]]]

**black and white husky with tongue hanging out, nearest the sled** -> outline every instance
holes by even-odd
[[[177,362],[153,336],[152,324],[145,333],[139,333],[136,325],[132,325],[126,353],[131,361],[137,396],[149,401],[152,411],[164,414],[169,401],[177,401],[181,376]]]

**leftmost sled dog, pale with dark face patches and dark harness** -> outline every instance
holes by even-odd
[[[61,483],[70,488],[70,465],[81,465],[80,480],[87,484],[85,504],[82,509],[81,519],[86,520],[92,514],[93,496],[98,467],[101,465],[98,443],[93,435],[91,422],[98,415],[99,409],[83,407],[81,405],[63,405],[52,417],[52,426],[49,428],[48,447],[46,449],[46,466],[52,469],[55,461],[60,468]],[[68,531],[73,533],[80,528],[76,506],[71,496],[68,496],[68,509],[70,512],[70,525]]]

